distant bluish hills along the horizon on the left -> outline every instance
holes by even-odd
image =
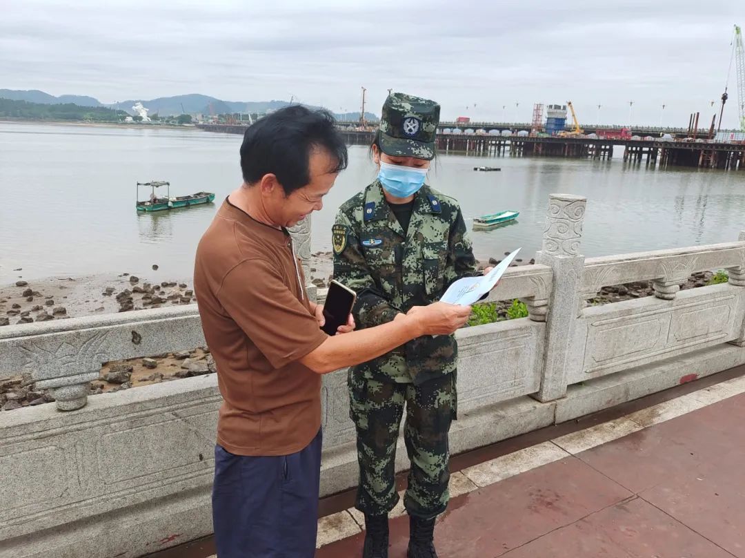
[[[277,110],[287,107],[288,101],[222,101],[221,99],[209,95],[200,95],[191,93],[188,95],[175,95],[173,97],[159,97],[153,99],[130,99],[119,101],[115,104],[102,104],[95,98],[81,95],[60,95],[55,97],[39,90],[7,90],[0,89],[0,98],[7,98],[12,101],[28,101],[40,104],[77,104],[81,107],[114,107],[118,110],[125,110],[130,115],[134,115],[132,107],[136,103],[148,109],[149,114],[157,114],[161,117],[178,114],[203,114],[205,116],[229,113],[244,114],[264,114],[267,111]],[[317,107],[311,107],[317,108]],[[360,119],[360,113],[335,114],[336,118],[345,122],[357,122]],[[377,122],[378,116],[373,113],[365,113],[370,122]]]

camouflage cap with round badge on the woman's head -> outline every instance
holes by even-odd
[[[425,98],[391,93],[383,104],[380,143],[393,157],[434,159],[434,138],[440,124],[440,105]]]

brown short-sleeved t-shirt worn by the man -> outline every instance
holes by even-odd
[[[218,444],[232,454],[293,454],[320,428],[320,375],[298,360],[327,336],[291,242],[226,200],[197,248],[194,290],[223,395]]]

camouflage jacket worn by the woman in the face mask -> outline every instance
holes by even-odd
[[[460,206],[425,184],[416,194],[408,234],[378,181],[346,201],[332,228],[334,277],[357,292],[358,329],[440,300],[450,283],[479,275]],[[355,368],[416,384],[454,372],[455,336],[423,336]]]

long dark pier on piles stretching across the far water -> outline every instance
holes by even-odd
[[[243,134],[244,125],[209,124],[199,128],[226,134]],[[349,145],[370,145],[375,130],[340,128]],[[440,153],[473,157],[574,157],[610,160],[613,148],[624,146],[624,161],[647,165],[694,166],[745,170],[745,142],[710,142],[706,139],[609,139],[590,137],[501,136],[495,134],[437,134]]]

